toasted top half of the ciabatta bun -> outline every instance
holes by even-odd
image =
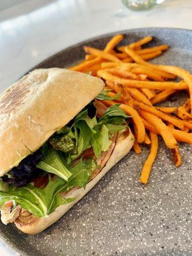
[[[37,69],[0,96],[0,177],[40,148],[104,88],[93,76]]]

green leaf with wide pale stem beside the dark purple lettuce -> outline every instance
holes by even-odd
[[[72,175],[66,168],[65,164],[61,161],[58,152],[45,144],[43,148],[43,159],[38,164],[37,168],[40,168],[46,172],[54,173],[64,180],[68,181],[68,178]]]

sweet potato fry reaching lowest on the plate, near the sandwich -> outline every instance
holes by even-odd
[[[143,170],[141,172],[141,177],[140,177],[140,181],[143,184],[147,184],[148,182],[148,177],[150,175],[152,165],[154,164],[154,161],[156,159],[157,150],[158,150],[157,134],[150,132],[150,140],[151,140],[150,154],[148,155],[147,160],[145,161]]]

